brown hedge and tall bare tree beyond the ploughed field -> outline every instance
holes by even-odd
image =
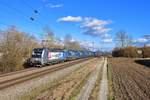
[[[113,49],[113,57],[130,57],[130,58],[147,58],[150,57],[150,47],[144,45],[144,47],[133,46],[133,40],[127,35],[125,31],[119,31],[116,34],[116,45]]]

